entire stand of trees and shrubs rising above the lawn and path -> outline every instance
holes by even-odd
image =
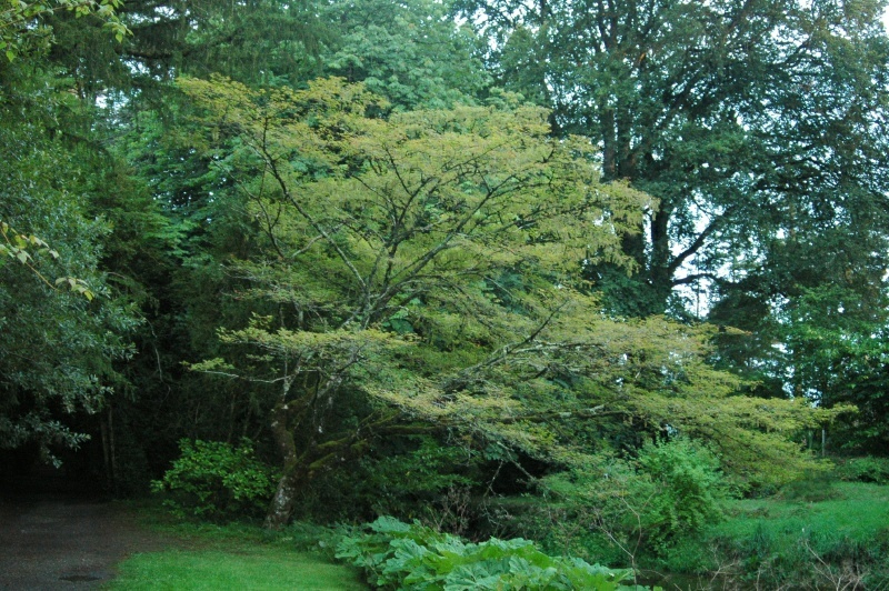
[[[3,3],[4,470],[661,554],[885,478],[885,10]]]

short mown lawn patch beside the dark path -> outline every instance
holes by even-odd
[[[109,589],[367,589],[354,569],[269,545],[136,554],[118,573]]]

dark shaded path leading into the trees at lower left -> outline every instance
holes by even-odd
[[[0,590],[96,589],[127,555],[164,545],[119,504],[96,495],[0,498]]]

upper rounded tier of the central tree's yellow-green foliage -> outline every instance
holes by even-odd
[[[551,289],[553,279],[571,281],[583,259],[627,262],[620,237],[652,204],[601,184],[589,142],[550,139],[542,109],[382,120],[363,117],[373,97],[337,80],[306,91],[181,84],[210,113],[210,133],[197,144],[237,134],[223,166],[250,196],[278,259],[240,271],[263,294],[339,323],[366,328],[417,296],[457,308],[436,310],[444,331],[495,314],[492,284],[503,270],[552,273]]]

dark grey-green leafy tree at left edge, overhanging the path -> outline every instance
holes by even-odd
[[[31,445],[54,461],[88,439],[71,418],[107,407],[138,321],[100,267],[109,227],[89,210],[93,171],[58,133],[76,99],[20,66],[2,72],[0,220],[6,250],[23,234],[49,247],[0,263],[0,449]]]

